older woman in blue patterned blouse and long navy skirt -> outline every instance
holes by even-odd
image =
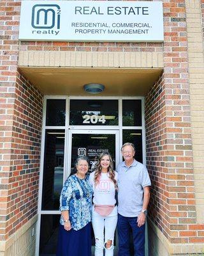
[[[61,192],[57,256],[91,256],[92,188],[86,176],[87,157],[78,157],[76,168]]]

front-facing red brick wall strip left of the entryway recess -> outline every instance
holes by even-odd
[[[8,237],[8,197],[9,179],[12,170],[13,116],[15,109],[15,81],[17,76],[18,20],[13,12],[20,15],[19,3],[14,1],[0,3],[0,240]],[[18,17],[17,16],[17,17]],[[14,16],[15,17],[15,16]],[[7,221],[7,223],[6,223]]]

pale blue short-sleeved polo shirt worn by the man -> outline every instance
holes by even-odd
[[[151,186],[147,168],[134,159],[131,166],[122,162],[117,166],[118,212],[124,217],[137,217],[142,211],[143,188]]]

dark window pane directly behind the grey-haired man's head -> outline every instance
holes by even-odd
[[[142,157],[142,130],[122,130],[122,144],[130,142],[135,145],[135,159],[143,163]]]

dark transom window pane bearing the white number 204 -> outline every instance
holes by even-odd
[[[118,100],[70,100],[70,125],[118,125]]]

